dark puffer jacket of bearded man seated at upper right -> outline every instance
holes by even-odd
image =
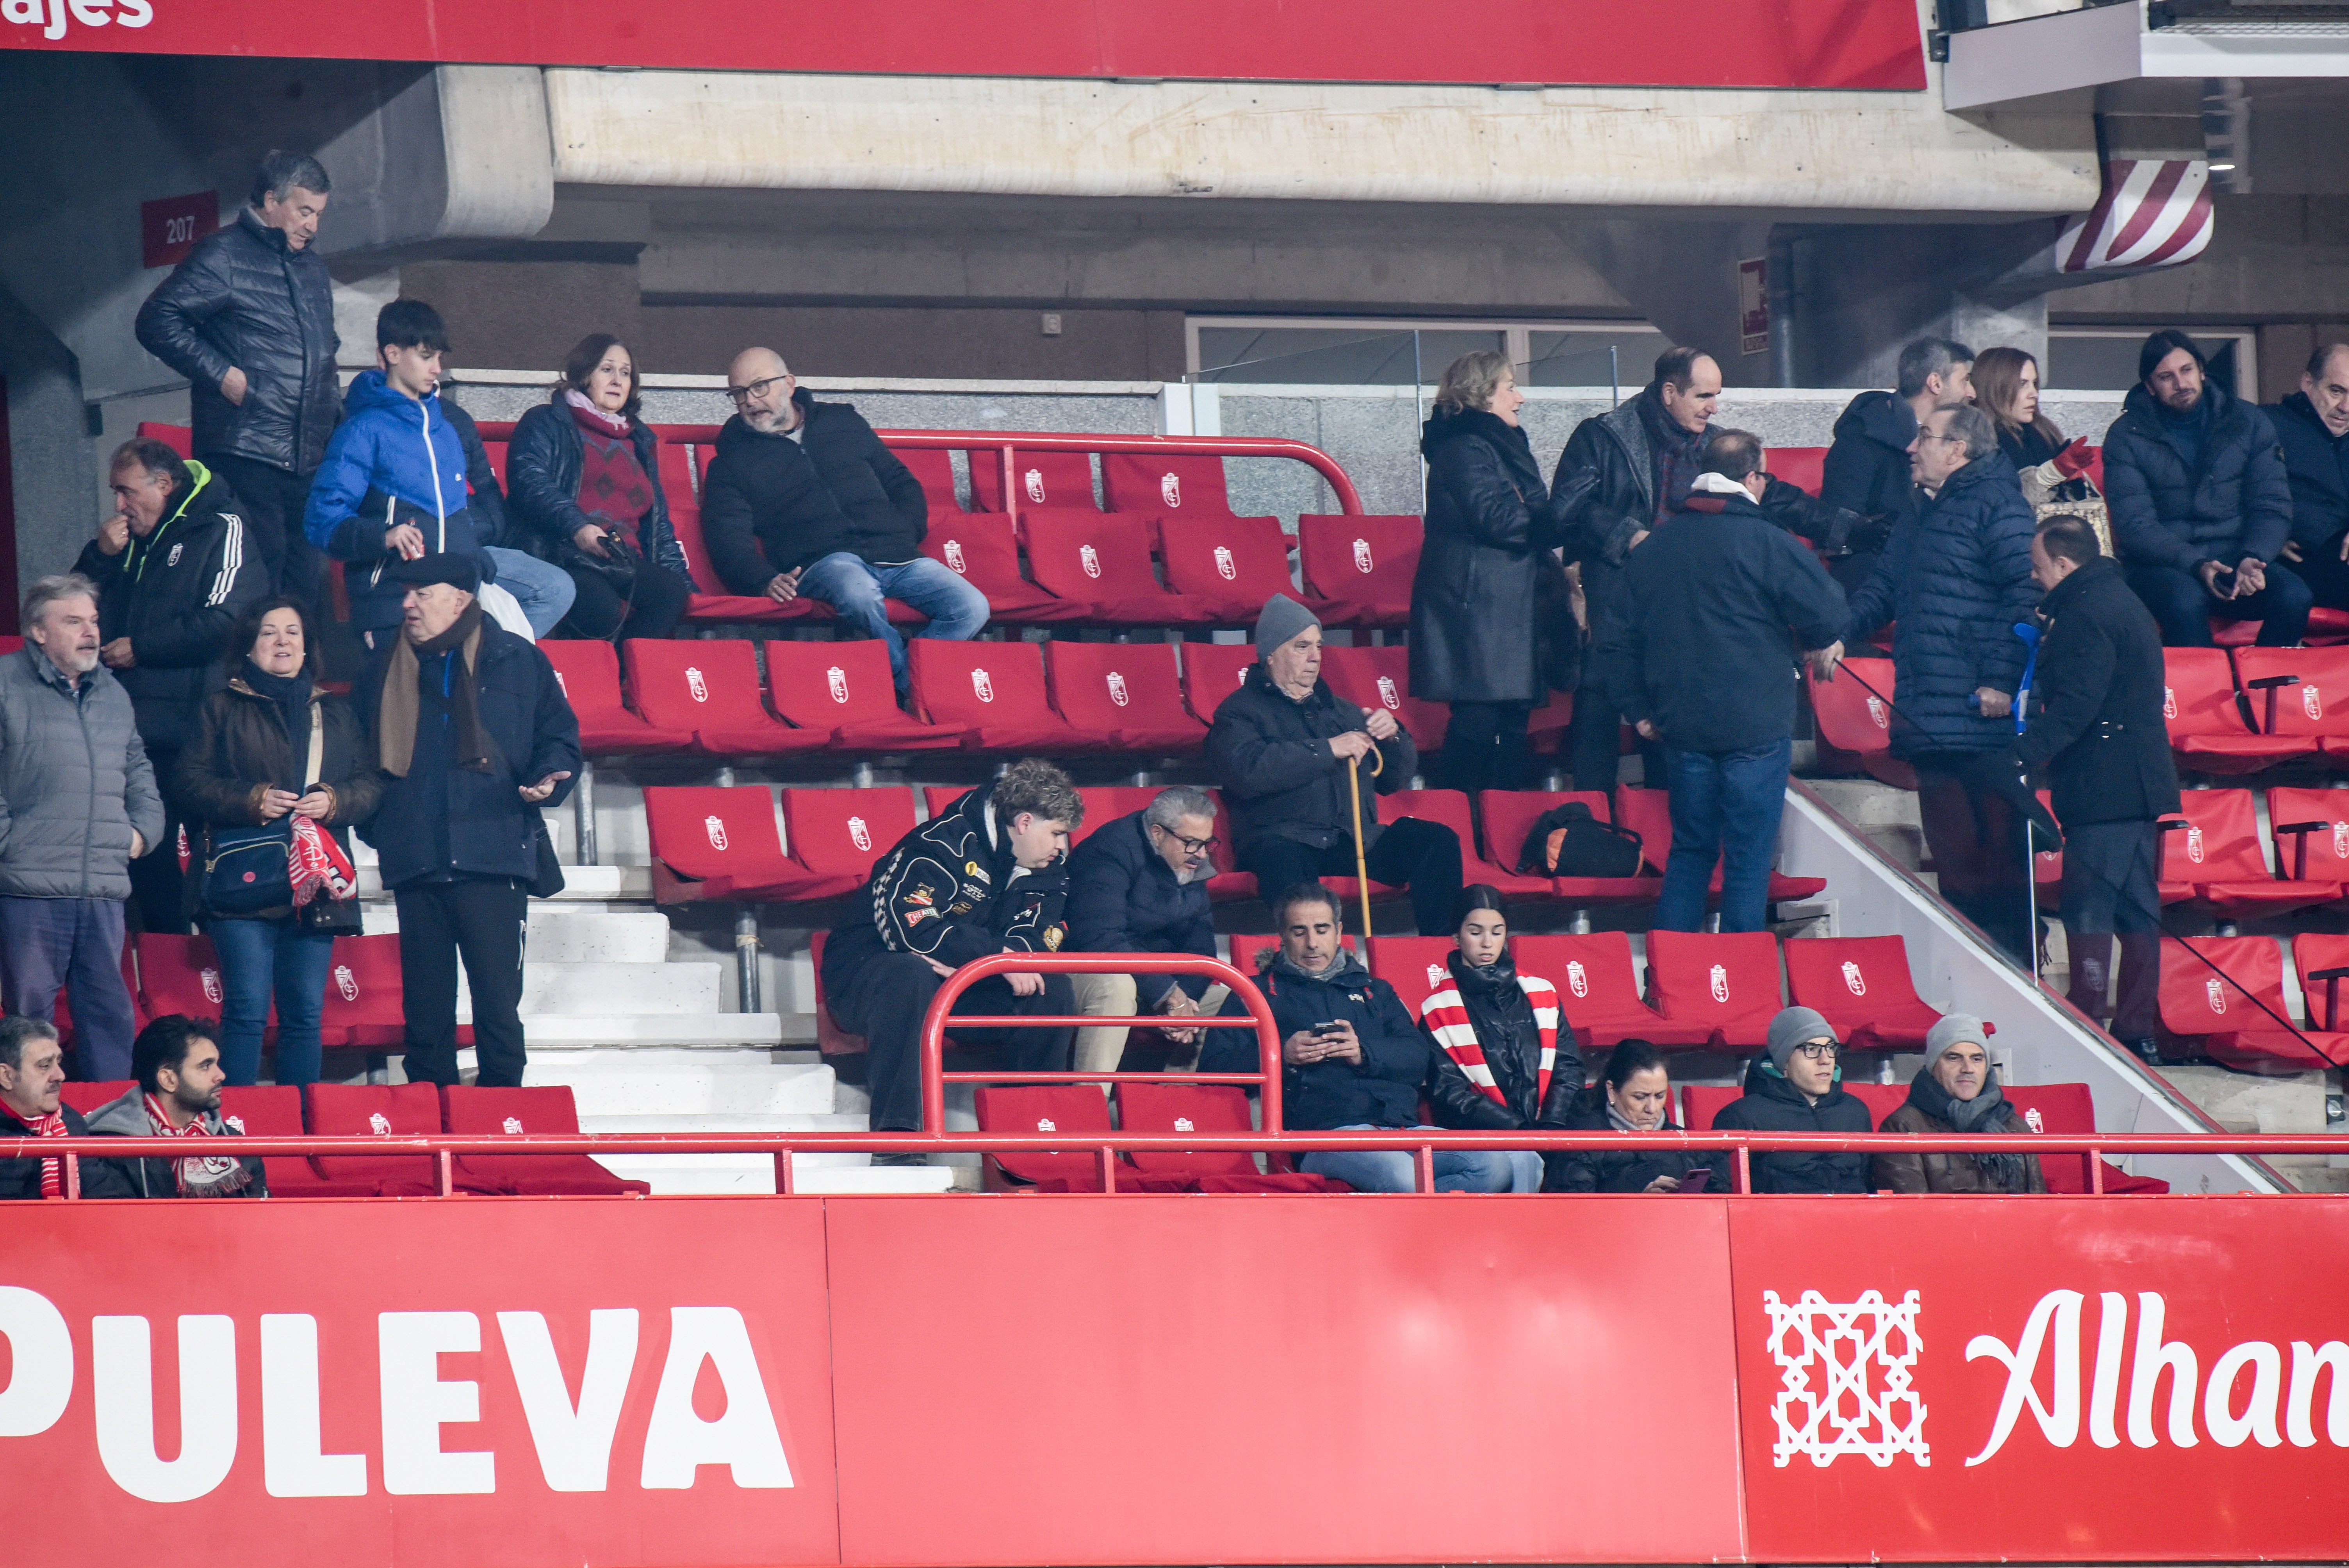
[[[2121,399],[2105,432],[2105,500],[2123,561],[2192,573],[2203,561],[2274,561],[2293,533],[2293,484],[2257,406],[2203,387],[2210,423],[2192,469],[2161,437],[2154,394]]]

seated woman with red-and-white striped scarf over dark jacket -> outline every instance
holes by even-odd
[[[1435,1042],[1426,1096],[1438,1127],[1501,1131],[1564,1127],[1583,1091],[1574,1026],[1546,979],[1517,974],[1508,955],[1508,904],[1499,890],[1463,887],[1452,906],[1449,981],[1419,1007]],[[1510,1192],[1539,1192],[1543,1160],[1510,1150]]]

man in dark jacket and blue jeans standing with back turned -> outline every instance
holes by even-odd
[[[1614,702],[1663,744],[1672,857],[1656,927],[1694,932],[1722,866],[1722,930],[1759,932],[1795,737],[1795,655],[1832,671],[1844,589],[1764,516],[1762,441],[1722,430],[1677,512],[1633,556],[1600,627]]]

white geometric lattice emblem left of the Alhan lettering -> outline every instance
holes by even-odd
[[[1804,1291],[1788,1305],[1778,1291],[1762,1291],[1769,1312],[1769,1352],[1778,1364],[1781,1392],[1771,1401],[1778,1469],[1797,1455],[1825,1469],[1844,1453],[1858,1453],[1877,1469],[1907,1453],[1931,1465],[1924,1441],[1924,1399],[1912,1387],[1917,1357],[1917,1291],[1900,1303],[1882,1291],[1858,1300],[1828,1300]],[[1825,1385],[1818,1385],[1825,1378]]]

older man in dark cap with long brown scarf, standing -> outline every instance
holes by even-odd
[[[411,1082],[458,1082],[456,960],[472,986],[484,1087],[521,1084],[521,932],[538,876],[538,812],[580,768],[580,725],[554,667],[474,601],[470,556],[392,568],[399,638],[357,697],[383,803],[364,836],[399,906]]]

